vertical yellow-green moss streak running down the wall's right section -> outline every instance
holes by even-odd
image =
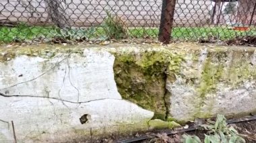
[[[207,99],[207,95],[215,95],[218,90],[218,83],[224,79],[224,61],[226,60],[226,52],[214,51],[207,55],[203,63],[203,70],[201,72],[201,79],[199,79],[199,86],[197,87],[197,99],[195,99],[195,113],[194,117],[207,118],[212,116],[212,109],[214,106],[213,100]],[[207,105],[207,112],[201,111],[206,101],[210,103]]]

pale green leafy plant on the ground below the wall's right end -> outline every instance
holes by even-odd
[[[216,122],[208,121],[208,124],[201,125],[207,130],[205,143],[244,143],[245,139],[239,136],[238,132],[226,123],[224,115],[217,115]],[[183,135],[183,142],[201,142],[197,136]]]

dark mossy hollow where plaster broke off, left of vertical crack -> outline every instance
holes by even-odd
[[[168,50],[116,53],[114,72],[119,93],[154,111],[154,119],[166,120],[166,74],[178,73],[182,60],[181,55]]]

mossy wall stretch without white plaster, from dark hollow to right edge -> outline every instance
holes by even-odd
[[[114,64],[119,93],[154,118],[184,123],[222,113],[256,113],[255,49],[171,44],[122,47]],[[162,88],[165,85],[165,88]]]

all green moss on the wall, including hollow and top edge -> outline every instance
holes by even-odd
[[[160,50],[158,48],[118,50],[113,48],[112,53],[115,54],[116,58],[114,64],[115,81],[119,93],[124,99],[132,101],[144,109],[154,111],[153,119],[166,120],[171,98],[170,94],[166,94],[166,77],[168,77],[168,82],[172,83],[179,76],[181,80],[186,82],[181,81],[181,84],[195,89],[195,94],[197,94],[195,99],[191,101],[195,103],[196,108],[193,109],[193,113],[191,111],[191,116],[211,117],[215,103],[214,100],[209,101],[208,99],[215,98],[210,96],[214,96],[216,91],[220,91],[218,89],[222,88],[220,84],[223,87],[232,87],[230,89],[232,90],[243,87],[246,81],[255,80],[256,67],[250,63],[254,49],[249,51],[232,49],[229,51],[226,48],[208,48],[209,53],[207,58],[203,60],[201,73],[197,73],[201,50],[202,48],[194,49],[193,47],[191,50],[168,48],[166,50],[161,48]],[[191,55],[188,57],[185,51]],[[83,52],[84,48],[71,47],[0,49],[0,62],[11,60],[19,55],[53,58],[57,53],[83,54]],[[183,62],[184,60],[185,62]],[[188,60],[192,60],[191,65],[186,63]],[[183,75],[180,70],[186,70],[187,73]],[[192,76],[187,76],[189,73]],[[167,117],[168,121],[179,120],[171,119],[170,116]]]

